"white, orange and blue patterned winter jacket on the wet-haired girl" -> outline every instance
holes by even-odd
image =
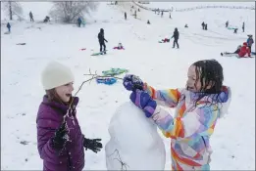
[[[176,167],[175,170],[179,170],[179,166],[174,166],[179,163],[195,167],[208,164],[212,152],[209,138],[213,134],[217,119],[228,111],[230,88],[223,86],[223,91],[218,97],[221,103],[215,103],[217,98],[211,95],[203,97],[196,106],[198,93],[186,89],[155,90],[145,83],[144,90],[158,104],[152,119],[165,137],[172,139],[173,169]],[[177,107],[175,116],[160,106]]]

